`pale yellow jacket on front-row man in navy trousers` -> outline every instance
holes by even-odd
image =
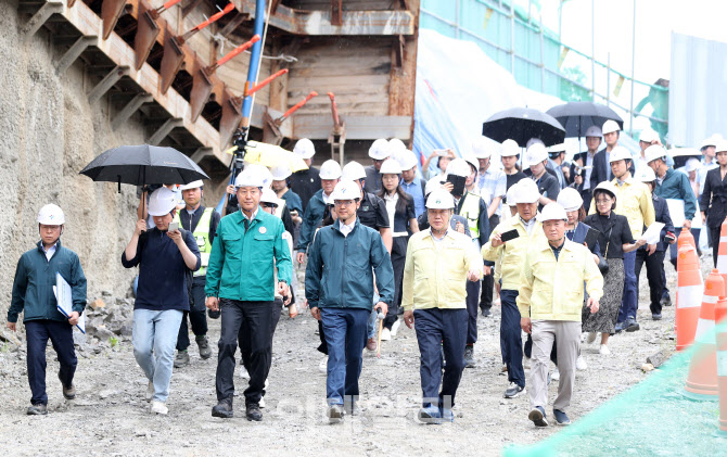
[[[405,310],[467,307],[467,272],[480,271],[483,263],[470,237],[447,230],[439,246],[432,230],[409,238],[404,266],[401,306]]]

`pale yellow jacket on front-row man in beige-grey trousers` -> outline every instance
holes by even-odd
[[[558,261],[548,241],[538,240],[522,264],[518,309],[523,317],[581,321],[583,283],[588,295],[601,300],[603,277],[594,255],[582,244],[565,240]]]

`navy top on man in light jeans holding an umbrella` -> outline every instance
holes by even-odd
[[[192,271],[200,269],[202,261],[196,241],[189,230],[180,229],[182,240],[196,256],[196,266]],[[126,251],[122,253],[122,265],[133,268],[139,265],[139,287],[135,309],[189,310],[188,272],[184,258],[179,252],[167,231],[156,227],[146,230],[139,237],[137,254],[133,258],[126,258]]]

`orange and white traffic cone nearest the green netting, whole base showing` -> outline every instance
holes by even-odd
[[[717,347],[714,338],[714,308],[717,300],[725,295],[725,281],[713,269],[704,284],[704,299],[697,323],[694,354],[689,364],[687,395],[696,399],[709,399],[718,394],[717,390]]]

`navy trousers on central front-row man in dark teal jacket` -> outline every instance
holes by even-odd
[[[326,397],[329,405],[358,399],[358,377],[364,364],[368,309],[320,308],[328,344]]]

